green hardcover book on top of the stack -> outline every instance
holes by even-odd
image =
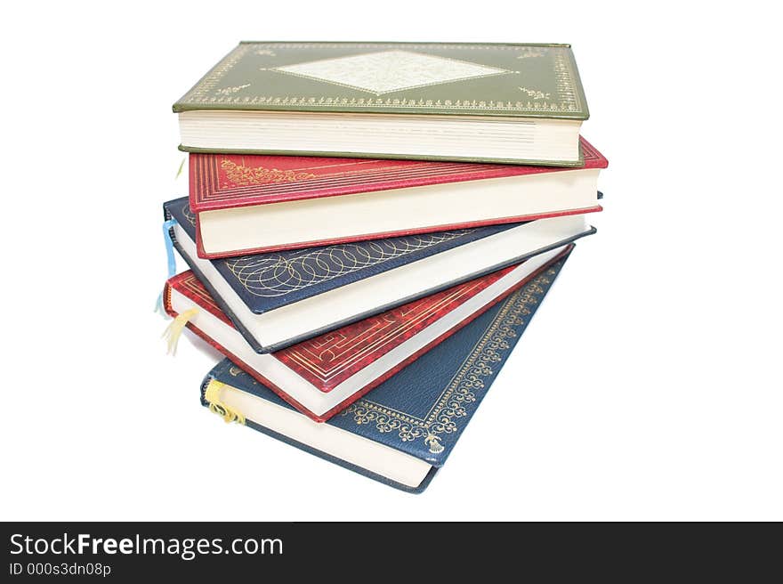
[[[569,45],[243,42],[174,103],[182,150],[581,166]]]

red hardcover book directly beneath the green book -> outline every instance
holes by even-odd
[[[190,209],[205,258],[317,247],[600,211],[607,160],[558,168],[190,154]]]

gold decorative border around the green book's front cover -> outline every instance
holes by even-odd
[[[367,48],[367,49],[460,49],[460,50],[492,50],[492,51],[525,51],[531,46],[544,46],[554,49],[555,82],[561,99],[555,101],[497,101],[497,100],[424,100],[424,99],[400,99],[400,98],[345,98],[341,96],[319,98],[299,95],[214,95],[216,85],[222,77],[233,69],[246,53],[251,49],[280,49],[280,48],[335,48],[335,47]],[[585,113],[583,104],[579,98],[579,92],[575,83],[576,70],[569,56],[569,45],[417,45],[407,43],[392,44],[361,44],[361,43],[242,43],[234,51],[223,58],[205,77],[203,77],[190,92],[186,93],[177,106],[292,106],[305,107],[308,110],[318,108],[334,108],[339,106],[363,109],[363,108],[389,108],[389,109],[421,109],[421,110],[495,110],[495,111],[527,111],[531,113]],[[440,56],[440,55],[439,55]],[[446,58],[446,57],[444,57]],[[272,68],[273,69],[273,68]],[[500,69],[500,68],[496,68]]]

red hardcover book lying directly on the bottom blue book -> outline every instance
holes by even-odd
[[[168,280],[165,310],[257,381],[323,422],[567,254],[561,247],[277,353],[255,353],[193,274]],[[195,311],[193,310],[195,309]]]

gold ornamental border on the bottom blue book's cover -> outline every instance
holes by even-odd
[[[440,443],[440,435],[458,430],[458,420],[467,416],[467,408],[477,401],[475,392],[484,387],[484,378],[493,374],[493,364],[501,363],[504,353],[511,350],[509,339],[516,336],[516,327],[524,324],[523,317],[531,312],[529,306],[538,304],[539,297],[545,293],[543,287],[551,284],[556,275],[557,270],[549,268],[505,300],[480,341],[473,345],[471,353],[424,418],[416,418],[367,399],[351,404],[341,415],[353,416],[353,421],[359,426],[374,424],[380,434],[396,432],[402,442],[422,438],[432,454],[442,452],[444,447]]]

